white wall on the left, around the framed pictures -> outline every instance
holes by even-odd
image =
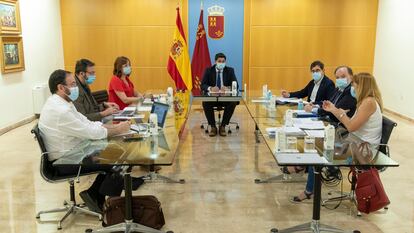
[[[64,67],[60,1],[19,2],[26,70],[0,74],[0,129],[33,116],[32,87]]]

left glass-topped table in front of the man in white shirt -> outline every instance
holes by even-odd
[[[137,113],[144,114],[144,118],[138,122],[132,120],[132,124],[148,122],[149,112]],[[56,160],[53,166],[98,164],[127,168],[124,173],[125,222],[95,230],[87,229],[86,232],[163,233],[161,230],[152,229],[132,221],[131,170],[134,166],[149,167],[149,173],[144,176],[146,182],[161,180],[168,183],[185,183],[183,179],[173,180],[159,175],[154,169],[155,166],[171,166],[177,154],[179,130],[175,127],[175,115],[172,108],[169,110],[164,128],[158,135],[148,134],[132,141],[126,140],[125,136],[119,135],[96,141],[86,140]]]

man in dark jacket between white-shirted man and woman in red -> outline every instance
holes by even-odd
[[[95,64],[88,59],[80,59],[75,66],[75,80],[79,88],[79,97],[75,104],[76,109],[91,121],[100,121],[106,116],[117,113],[119,106],[105,102],[98,104],[89,88],[96,79]]]

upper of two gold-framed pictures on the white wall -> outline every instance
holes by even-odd
[[[20,34],[20,11],[17,1],[0,1],[1,34]]]

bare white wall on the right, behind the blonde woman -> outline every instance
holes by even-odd
[[[385,108],[414,119],[414,1],[379,0],[374,76]]]

